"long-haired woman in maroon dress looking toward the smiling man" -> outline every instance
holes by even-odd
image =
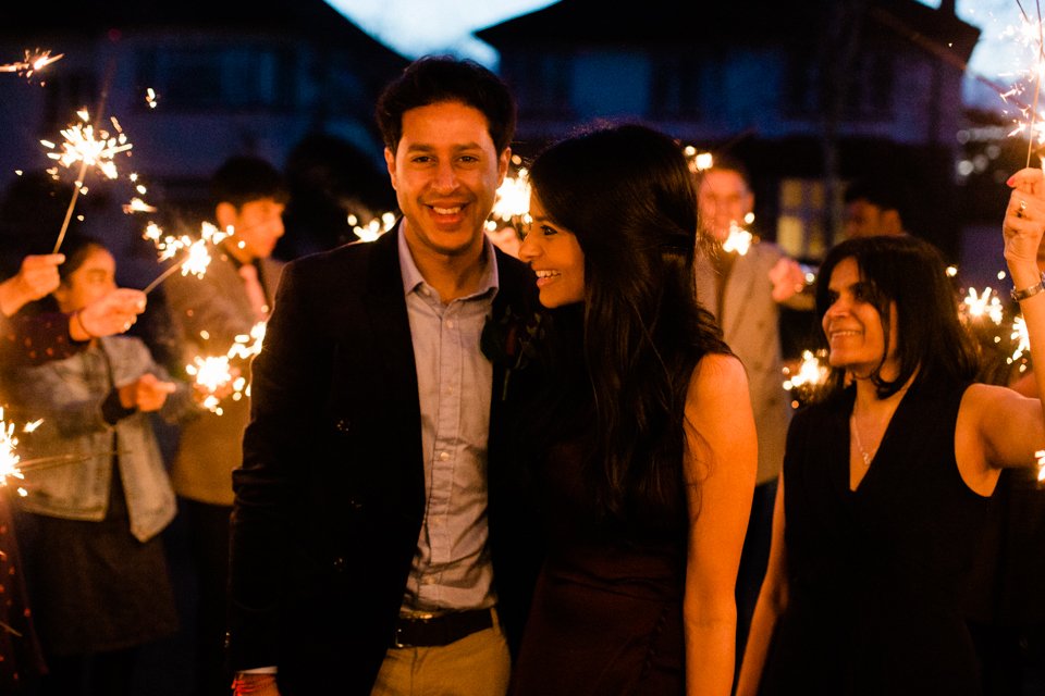
[[[728,694],[757,444],[743,368],[696,300],[692,175],[626,125],[552,146],[530,183],[548,557],[513,693]]]

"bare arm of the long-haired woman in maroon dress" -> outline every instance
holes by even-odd
[[[686,692],[728,695],[736,659],[734,593],[758,462],[739,360],[710,355],[700,361],[689,383],[684,427],[690,520],[683,600]]]

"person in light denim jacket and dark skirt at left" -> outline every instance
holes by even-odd
[[[52,297],[74,316],[115,291],[115,261],[98,241],[66,238]],[[149,413],[192,413],[140,339],[93,337],[81,352],[12,375],[24,414],[42,425],[28,458],[83,455],[24,471],[19,529],[49,673],[41,694],[128,694],[135,648],[174,632],[176,613],[159,533],[174,492]]]

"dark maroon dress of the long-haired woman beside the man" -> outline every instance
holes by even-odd
[[[554,447],[539,472],[548,556],[509,694],[683,694],[685,515],[639,531],[598,523],[582,451]]]

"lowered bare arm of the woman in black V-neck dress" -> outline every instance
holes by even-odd
[[[787,608],[787,549],[784,543],[784,474],[776,489],[773,506],[773,542],[770,546],[770,564],[765,570],[759,601],[754,606],[748,645],[740,664],[737,696],[754,696],[759,692],[765,657],[770,650],[773,631],[784,609]]]

